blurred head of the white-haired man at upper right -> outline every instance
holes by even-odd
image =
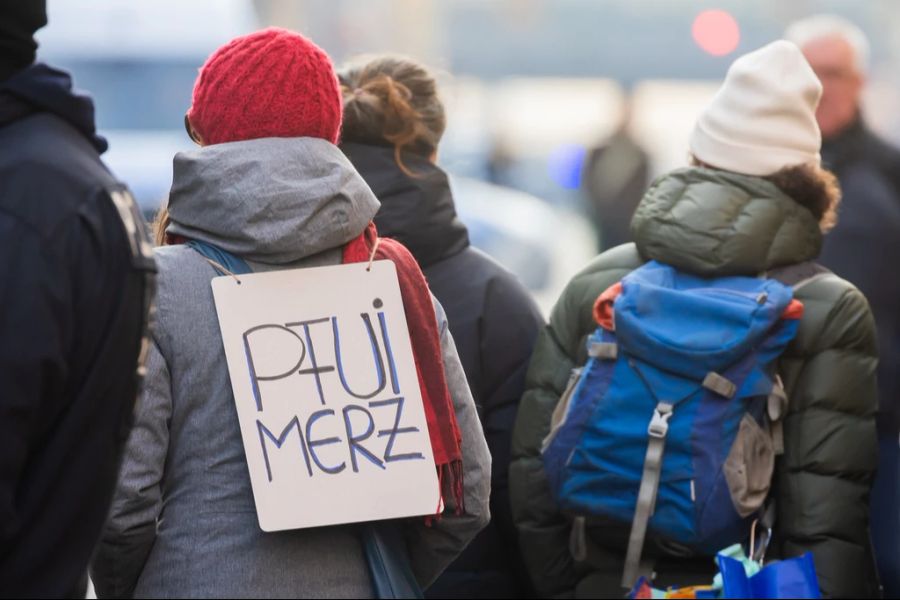
[[[869,43],[853,23],[833,15],[797,21],[785,32],[797,44],[822,81],[816,111],[822,137],[830,138],[853,123],[859,111],[869,60]]]

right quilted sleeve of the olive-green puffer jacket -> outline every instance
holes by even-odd
[[[783,557],[811,551],[822,593],[876,597],[869,493],[876,466],[877,348],[863,295],[827,276],[799,295],[800,332],[782,358],[789,393],[776,472]]]

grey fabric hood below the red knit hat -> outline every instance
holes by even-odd
[[[167,231],[281,265],[346,244],[378,206],[337,146],[263,138],[176,154]]]

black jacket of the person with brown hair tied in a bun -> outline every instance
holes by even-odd
[[[510,443],[525,370],[544,319],[506,269],[469,246],[447,175],[431,162],[393,149],[343,144],[341,149],[381,201],[380,235],[402,242],[443,305],[492,457],[491,524],[432,585],[433,598],[515,598],[530,594],[509,506]]]

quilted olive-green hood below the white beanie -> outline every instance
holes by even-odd
[[[758,275],[812,260],[822,233],[813,214],[761,177],[686,168],[657,179],[631,233],[646,260],[695,275]]]

